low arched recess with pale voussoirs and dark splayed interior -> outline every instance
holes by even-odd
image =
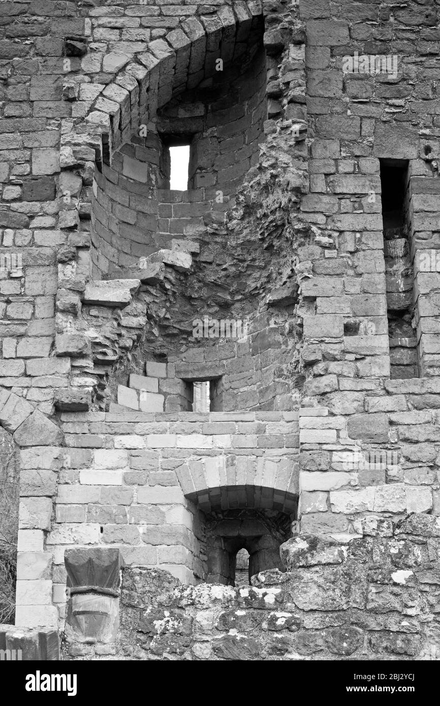
[[[191,502],[207,582],[234,585],[241,549],[250,555],[249,580],[261,570],[285,570],[280,545],[297,518],[297,465],[223,455],[190,460],[176,472]]]

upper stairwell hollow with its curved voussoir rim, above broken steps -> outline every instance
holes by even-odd
[[[189,20],[148,44],[103,90],[109,115],[91,204],[93,279],[127,270],[224,213],[258,162],[266,119],[263,16]],[[136,87],[133,85],[136,84]],[[99,115],[98,115],[99,114]],[[102,116],[102,118],[100,118]],[[191,143],[189,189],[170,191],[170,144]]]

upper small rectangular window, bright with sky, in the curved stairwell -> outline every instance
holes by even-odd
[[[190,169],[193,136],[162,135],[160,172],[163,189],[186,191],[191,189]]]

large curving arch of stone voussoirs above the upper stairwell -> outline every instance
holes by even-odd
[[[102,136],[101,160],[154,119],[157,109],[184,90],[209,81],[222,66],[240,61],[261,36],[263,13],[259,0],[222,6],[207,16],[186,18],[178,27],[145,44],[145,52],[107,55],[116,68],[112,83],[97,96],[85,116],[85,129]]]

